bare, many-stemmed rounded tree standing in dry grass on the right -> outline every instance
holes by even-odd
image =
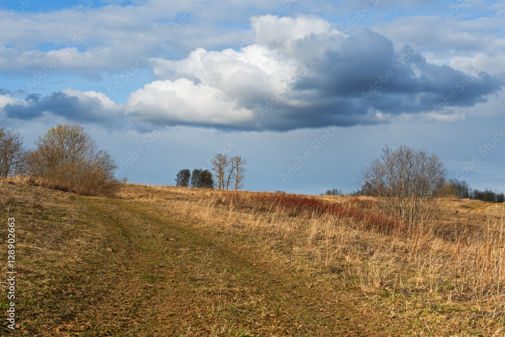
[[[411,226],[433,220],[435,199],[447,170],[435,153],[407,145],[382,148],[380,158],[361,172],[360,183],[378,197],[384,213]]]

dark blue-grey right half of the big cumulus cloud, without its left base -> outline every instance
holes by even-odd
[[[422,46],[413,42],[395,53],[390,40],[363,29],[340,48],[327,50],[295,89],[316,90],[312,100],[320,113],[314,115],[325,117],[322,111],[326,111],[334,119],[362,124],[367,121],[363,115],[376,110],[397,115],[428,112],[437,106],[473,106],[502,86],[477,68],[466,74],[429,64],[421,52]]]

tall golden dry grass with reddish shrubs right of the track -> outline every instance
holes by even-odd
[[[400,310],[416,317],[428,310],[464,321],[471,317],[465,324],[476,326],[478,334],[505,331],[503,204],[444,199],[436,223],[405,229],[388,219],[382,223],[390,228],[376,226],[380,215],[371,197],[175,187],[141,193],[137,186],[122,196],[166,203],[202,226],[281,250],[301,266],[340,272],[373,303],[391,306],[392,315]],[[333,206],[325,208],[328,203]]]

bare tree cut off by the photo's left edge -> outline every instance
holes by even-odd
[[[27,150],[19,132],[0,128],[0,177],[23,171]]]

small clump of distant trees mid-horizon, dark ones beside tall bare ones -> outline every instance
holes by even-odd
[[[175,178],[175,186],[218,188],[220,190],[240,189],[245,181],[245,164],[247,160],[241,156],[228,157],[217,153],[211,160],[212,174],[209,170],[195,169],[192,173],[188,168],[180,170]]]

